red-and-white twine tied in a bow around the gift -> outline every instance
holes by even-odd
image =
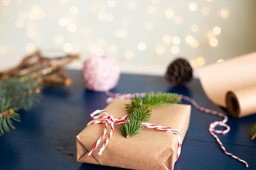
[[[95,116],[99,113],[104,113],[104,115]],[[103,131],[101,137],[97,140],[96,144],[94,145],[93,149],[88,153],[89,157],[92,155],[93,152],[95,152],[95,150],[99,146],[102,138],[106,135],[106,132],[108,130],[108,124],[110,124],[110,128],[111,128],[110,134],[108,135],[108,137],[107,137],[105,143],[103,144],[103,146],[101,147],[101,149],[98,151],[99,155],[101,155],[102,151],[106,148],[109,139],[113,135],[114,124],[123,124],[124,121],[126,121],[126,119],[128,118],[128,115],[126,115],[124,117],[121,117],[120,119],[114,119],[112,117],[112,115],[108,115],[108,113],[105,110],[95,110],[94,112],[91,113],[91,117],[92,117],[92,119],[105,118],[105,120],[92,120],[87,125],[105,123],[105,128],[104,128],[104,131]],[[177,161],[177,159],[180,156],[180,151],[181,151],[181,146],[182,146],[182,139],[181,139],[180,132],[178,130],[173,129],[173,128],[169,128],[169,127],[165,127],[165,126],[159,126],[159,125],[155,125],[155,124],[144,123],[144,122],[141,123],[141,126],[143,126],[145,128],[152,128],[152,129],[162,130],[162,131],[165,131],[165,132],[171,132],[171,133],[177,135],[177,137],[178,137],[178,147],[177,147],[177,157],[176,157],[176,161]]]

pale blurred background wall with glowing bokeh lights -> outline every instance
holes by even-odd
[[[256,51],[255,0],[1,0],[0,71],[40,50],[112,55],[122,72],[162,75]]]

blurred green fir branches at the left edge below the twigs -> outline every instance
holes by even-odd
[[[29,110],[40,101],[42,85],[33,74],[0,82],[0,136],[15,129],[13,121],[20,121],[19,109]]]

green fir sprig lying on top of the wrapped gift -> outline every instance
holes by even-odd
[[[157,92],[154,94],[153,91],[149,91],[143,98],[135,95],[135,97],[131,98],[130,104],[126,104],[126,110],[130,115],[121,126],[122,134],[126,138],[137,135],[144,128],[141,123],[149,121],[152,108],[175,104],[180,100],[180,96],[177,93]]]

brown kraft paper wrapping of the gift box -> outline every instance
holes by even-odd
[[[125,104],[130,99],[114,99],[104,109],[114,118],[127,115]],[[154,108],[148,123],[175,128],[180,131],[182,139],[189,127],[191,106],[170,104]],[[173,170],[177,156],[177,136],[155,129],[144,128],[134,137],[126,138],[121,134],[121,125],[114,125],[114,132],[102,155],[88,153],[94,147],[104,130],[104,124],[92,124],[76,136],[77,161],[133,170]],[[110,126],[110,125],[109,125]],[[110,130],[106,133],[108,136]],[[99,144],[98,151],[106,137]]]

